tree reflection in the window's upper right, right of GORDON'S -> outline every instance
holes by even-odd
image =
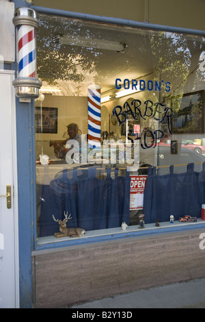
[[[155,57],[154,76],[168,77],[172,84],[172,91],[162,99],[169,102],[174,112],[178,112],[184,91],[202,89],[199,87],[204,73],[200,71],[199,64],[205,49],[204,40],[197,36],[152,32],[150,45]]]

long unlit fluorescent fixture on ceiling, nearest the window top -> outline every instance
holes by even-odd
[[[85,37],[77,37],[73,38],[72,36],[59,36],[59,43],[63,45],[70,45],[70,46],[80,46],[80,47],[87,47],[88,49],[105,49],[105,50],[112,50],[118,51],[123,53],[127,47],[127,45],[122,44],[118,41],[111,41],[111,40],[103,40],[103,39],[94,39],[94,38],[85,38]]]

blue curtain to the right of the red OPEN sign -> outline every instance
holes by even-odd
[[[201,173],[188,164],[186,173],[174,173],[170,166],[168,175],[156,175],[156,167],[148,169],[148,179],[143,198],[143,213],[146,223],[169,221],[173,215],[200,217],[204,203],[205,166]]]

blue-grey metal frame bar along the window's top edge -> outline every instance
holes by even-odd
[[[53,14],[57,16],[65,16],[68,18],[77,18],[86,21],[94,21],[98,23],[109,23],[113,25],[121,25],[124,27],[138,27],[142,29],[154,29],[154,30],[161,30],[164,32],[176,32],[179,34],[191,34],[197,36],[205,36],[204,30],[197,30],[197,29],[188,29],[182,27],[170,27],[165,25],[156,25],[154,23],[141,23],[139,21],[132,21],[122,18],[113,18],[107,16],[96,16],[93,14],[83,14],[81,12],[70,12],[65,10],[53,9],[53,8],[44,8],[38,7],[36,5],[31,5],[30,8],[40,12],[42,14]]]

